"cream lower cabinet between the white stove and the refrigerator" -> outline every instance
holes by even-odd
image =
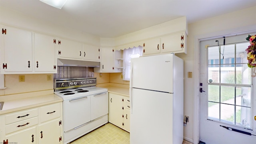
[[[108,122],[130,132],[130,99],[108,93]]]

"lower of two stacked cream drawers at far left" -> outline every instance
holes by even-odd
[[[20,122],[15,122],[13,124],[8,124],[5,126],[5,134],[9,134],[11,132],[22,130],[22,129],[28,128],[30,126],[34,126],[36,124],[38,124],[38,117],[30,118],[27,120],[22,120]]]

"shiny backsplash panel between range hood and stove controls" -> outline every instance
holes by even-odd
[[[54,74],[54,79],[93,77],[94,68],[90,67],[58,66],[58,72],[57,74]]]

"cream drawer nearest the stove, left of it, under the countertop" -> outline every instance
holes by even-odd
[[[40,108],[40,122],[46,122],[58,117],[60,117],[60,103]]]

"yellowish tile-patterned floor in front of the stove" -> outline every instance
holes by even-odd
[[[130,144],[130,133],[108,123],[70,142],[70,144]],[[182,144],[192,143],[184,140]]]

